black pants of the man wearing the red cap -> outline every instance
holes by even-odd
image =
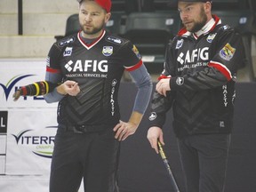
[[[102,132],[74,133],[61,128],[55,137],[50,192],[118,192],[119,141],[114,127]]]

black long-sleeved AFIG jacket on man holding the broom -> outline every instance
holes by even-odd
[[[213,18],[201,36],[181,29],[166,51],[160,79],[171,78],[171,92],[166,98],[154,93],[149,120],[162,127],[172,107],[178,137],[232,129],[236,71],[245,64],[244,45],[233,28]]]

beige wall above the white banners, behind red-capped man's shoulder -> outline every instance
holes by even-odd
[[[23,0],[23,36],[19,36],[18,1],[0,1],[0,58],[41,58],[54,36],[65,34],[68,16],[76,13],[76,0]]]

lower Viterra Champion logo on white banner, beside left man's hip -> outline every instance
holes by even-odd
[[[56,126],[46,127],[47,129],[56,129]],[[36,130],[24,130],[17,135],[12,134],[16,140],[17,145],[21,147],[28,147],[36,156],[44,158],[52,158],[54,148],[54,135],[38,134]]]

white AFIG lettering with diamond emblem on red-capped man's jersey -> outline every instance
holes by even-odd
[[[107,73],[108,72],[108,60],[69,60],[68,63],[65,65],[65,68],[68,72],[101,72]]]

